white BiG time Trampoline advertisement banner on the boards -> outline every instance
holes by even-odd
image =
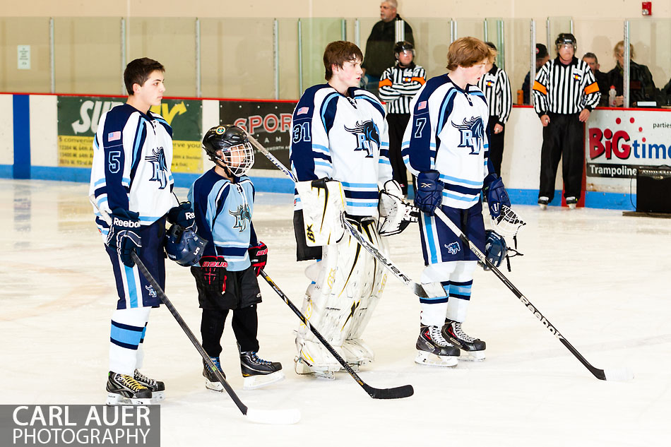
[[[586,133],[590,191],[628,193],[637,167],[671,165],[671,112],[597,109]]]

